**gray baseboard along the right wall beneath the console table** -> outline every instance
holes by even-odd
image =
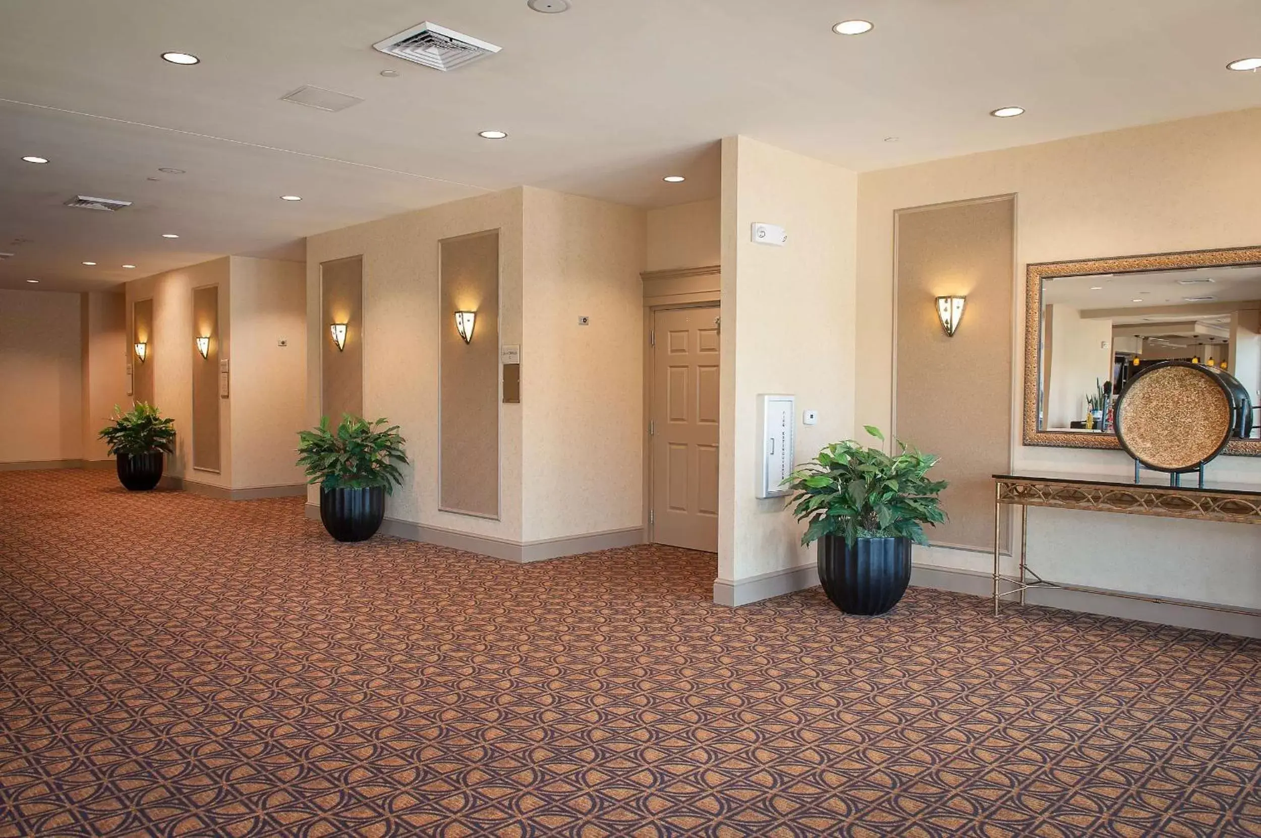
[[[917,565],[910,572],[910,583],[917,587],[932,587],[939,591],[971,594],[989,599],[994,592],[994,577],[989,573],[958,571],[944,567],[926,567]],[[1067,583],[1067,582],[1066,582]],[[1146,602],[1112,596],[1108,591],[1066,591],[1062,588],[1040,588],[1025,594],[1025,602],[1066,611],[1101,614],[1103,616],[1141,620],[1175,625],[1184,629],[1218,631],[1242,638],[1261,638],[1261,611],[1235,614],[1214,611],[1211,602]],[[1004,609],[1019,609],[1015,596],[1004,599]]]

